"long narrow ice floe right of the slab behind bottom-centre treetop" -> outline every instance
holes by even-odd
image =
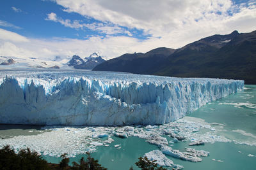
[[[170,146],[162,146],[161,147],[162,152],[165,155],[169,155],[171,157],[179,158],[182,160],[189,160],[191,162],[200,162],[202,159],[197,157],[197,155],[194,153],[188,153],[188,152],[180,152],[179,150],[173,150]]]

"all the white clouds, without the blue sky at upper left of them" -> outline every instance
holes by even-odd
[[[63,6],[68,13],[79,13],[97,22],[88,24],[81,20],[69,20],[56,13],[47,14],[46,20],[74,29],[98,31],[107,36],[90,36],[84,40],[33,39],[0,29],[0,39],[4,40],[0,41],[0,54],[16,55],[20,52],[22,55],[51,59],[56,55],[66,57],[76,53],[85,57],[92,52],[100,52],[113,58],[124,53],[147,52],[159,46],[180,48],[213,34],[229,34],[234,30],[251,32],[256,28],[256,6],[253,1],[247,4],[234,4],[230,0],[54,2]],[[142,30],[143,36],[152,36],[144,40],[134,38],[134,32],[128,31],[133,28]],[[4,50],[8,46],[12,47],[12,53]]]

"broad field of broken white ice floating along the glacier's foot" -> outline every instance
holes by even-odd
[[[200,118],[185,117],[175,122],[164,125],[152,126],[148,129],[145,126],[136,125],[134,127],[62,127],[46,126],[42,129],[42,134],[31,136],[15,136],[13,138],[1,139],[0,146],[11,145],[17,150],[29,147],[43,155],[60,156],[63,153],[75,156],[85,152],[97,150],[97,143],[109,146],[113,143],[114,133],[121,133],[129,136],[137,136],[145,139],[148,143],[159,146],[168,146],[168,140],[164,138],[166,131],[183,136],[188,141],[204,141],[214,143],[216,141],[231,142],[229,139],[218,136],[218,131],[211,131],[211,125]],[[68,131],[67,131],[68,129]],[[193,129],[199,131],[193,132]],[[204,131],[201,132],[201,129]],[[102,137],[102,138],[100,138]],[[213,138],[214,137],[214,138]]]

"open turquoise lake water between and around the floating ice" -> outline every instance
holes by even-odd
[[[173,149],[182,152],[186,147],[190,147],[208,151],[210,155],[202,157],[202,162],[188,162],[167,156],[168,159],[184,166],[184,169],[256,169],[256,156],[253,156],[256,155],[256,85],[245,85],[242,92],[206,104],[189,114],[187,118],[204,120],[214,127],[216,134],[225,136],[231,142],[205,143],[201,146],[189,146],[189,141],[172,143]],[[0,137],[12,138],[18,135],[38,135],[45,132],[45,130],[34,131],[35,129],[40,128],[0,125]],[[33,131],[32,134],[29,133],[31,131]],[[173,140],[170,136],[163,137],[168,141]],[[131,166],[137,169],[134,163],[138,161],[138,157],[159,149],[156,145],[150,145],[145,139],[137,137],[112,138],[115,140],[113,143],[109,146],[97,146],[97,152],[92,153],[92,157],[98,159],[99,163],[108,169],[129,169]],[[119,144],[122,148],[114,147]],[[251,157],[248,156],[249,154]],[[60,158],[49,155],[43,157],[50,162],[60,161]],[[70,162],[78,162],[81,157],[85,155],[76,155],[70,158]]]

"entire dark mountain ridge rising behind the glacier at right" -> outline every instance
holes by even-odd
[[[93,70],[228,78],[256,84],[256,31],[209,36],[179,49],[161,47],[147,53],[125,53]]]

